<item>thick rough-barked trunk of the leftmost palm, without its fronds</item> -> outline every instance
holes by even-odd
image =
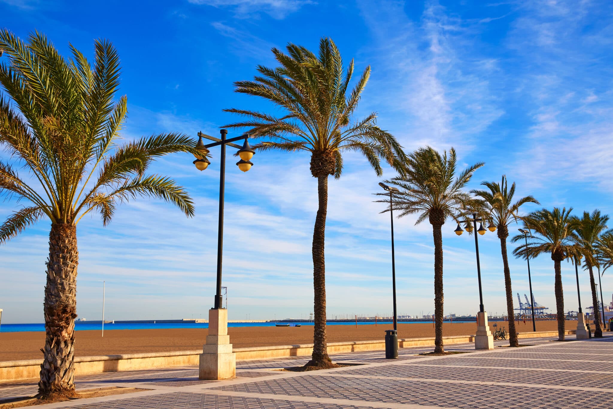
[[[74,329],[77,318],[77,227],[51,224],[45,285],[45,347],[39,394],[74,395]]]

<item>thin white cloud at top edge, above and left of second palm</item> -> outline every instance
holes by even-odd
[[[300,7],[315,4],[311,0],[188,0],[193,4],[204,4],[218,8],[231,9],[235,17],[250,18],[258,13],[266,13],[281,20],[297,12]]]

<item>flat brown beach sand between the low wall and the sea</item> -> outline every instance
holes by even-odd
[[[577,321],[568,321],[566,327],[574,329]],[[492,326],[493,323],[490,323]],[[476,323],[443,324],[443,335],[468,335],[476,331]],[[506,326],[507,323],[498,323]],[[328,342],[383,339],[384,331],[392,329],[384,325],[329,325]],[[517,325],[519,332],[531,332],[532,323],[523,321]],[[537,321],[537,331],[557,331],[557,321]],[[313,343],[313,326],[303,327],[230,327],[230,342],[236,348],[242,346],[295,345]],[[131,354],[159,351],[199,350],[205,342],[207,329],[124,329],[77,331],[76,356]],[[399,338],[433,337],[432,323],[398,324]],[[44,332],[1,332],[0,361],[17,359],[42,359],[40,348],[44,346]]]

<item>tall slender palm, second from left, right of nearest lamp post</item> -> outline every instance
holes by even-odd
[[[339,178],[343,151],[362,153],[377,175],[383,173],[380,159],[400,169],[402,147],[387,131],[376,125],[377,114],[350,123],[368,78],[367,67],[351,93],[348,93],[354,64],[343,72],[343,61],[331,39],[319,42],[319,56],[294,44],[287,54],[272,49],[280,64],[274,69],[257,66],[253,81],[235,83],[238,93],[263,97],[279,107],[280,117],[243,109],[227,109],[246,120],[227,128],[249,128],[251,137],[272,139],[254,146],[263,150],[307,151],[311,155],[311,175],[318,180],[319,208],[313,231],[314,335],[313,356],[307,367],[332,367],[326,343],[326,263],[324,239],[328,202],[328,175]]]

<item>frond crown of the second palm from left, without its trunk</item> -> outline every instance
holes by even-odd
[[[370,76],[367,67],[349,95],[348,87],[354,72],[353,60],[345,71],[337,45],[328,38],[319,42],[315,55],[307,48],[287,44],[286,53],[272,49],[279,66],[257,66],[260,75],[250,81],[235,82],[235,91],[267,99],[283,111],[277,118],[268,113],[244,109],[226,109],[246,120],[224,128],[246,128],[251,137],[270,138],[281,144],[279,148],[294,151],[305,147],[314,153],[329,153],[335,158],[335,177],[343,169],[341,151],[360,151],[377,174],[381,174],[380,161],[402,172],[405,153],[394,136],[376,125],[376,113],[350,124],[352,114],[360,100]],[[299,141],[305,142],[297,144]],[[257,145],[264,149],[273,143]]]

